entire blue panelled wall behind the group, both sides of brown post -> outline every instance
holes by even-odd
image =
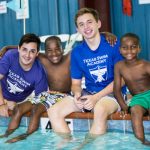
[[[140,5],[138,0],[132,0],[132,16],[129,17],[122,12],[122,0],[109,1],[112,32],[119,38],[127,32],[138,34],[142,46],[140,57],[150,60],[150,4]],[[34,32],[39,36],[75,33],[74,16],[78,7],[78,0],[29,0],[26,33]],[[16,13],[7,8],[7,14],[0,14],[0,48],[17,45],[22,35],[23,20],[17,20]]]

